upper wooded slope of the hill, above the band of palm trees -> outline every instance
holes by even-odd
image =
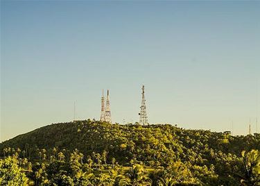
[[[229,133],[214,133],[209,130],[185,130],[169,124],[120,125],[88,119],[37,128],[2,142],[0,151],[7,146],[20,149],[58,147],[78,149],[83,153],[120,151],[127,155],[124,157],[127,158],[128,155],[139,154],[144,148],[165,153],[182,149],[186,152],[185,156],[189,155],[187,149],[207,148],[240,155],[243,150],[260,149],[259,142],[260,135],[232,136]]]

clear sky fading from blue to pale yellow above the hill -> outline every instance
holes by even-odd
[[[1,1],[0,141],[52,123],[260,132],[260,1]],[[233,123],[233,127],[232,127]]]

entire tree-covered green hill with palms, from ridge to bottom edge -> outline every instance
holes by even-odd
[[[1,143],[0,184],[11,167],[30,185],[260,185],[259,150],[257,134],[89,119]]]

